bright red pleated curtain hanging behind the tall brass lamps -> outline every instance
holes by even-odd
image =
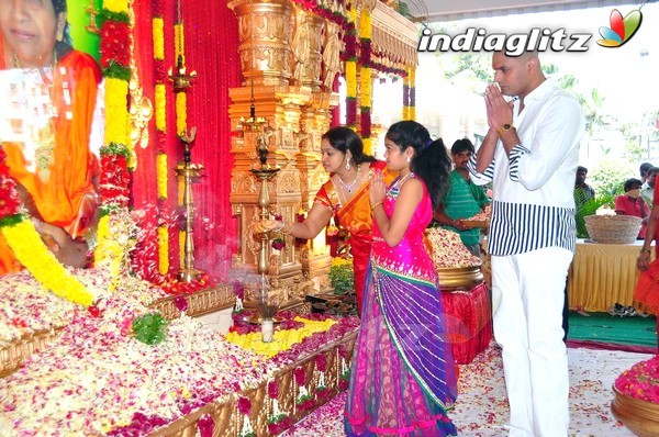
[[[154,86],[159,67],[153,56],[152,18],[154,4],[161,5],[165,29],[166,68],[174,67],[174,23],[177,7],[174,0],[134,2],[135,63],[145,96],[154,102]],[[197,268],[223,280],[228,276],[231,256],[236,250],[236,220],[230,203],[233,156],[228,119],[228,89],[239,86],[238,23],[226,2],[181,2],[185,27],[186,65],[198,76],[188,88],[188,130],[197,127],[192,161],[205,167],[205,177],[192,188],[196,205],[194,254]],[[176,105],[171,83],[167,86],[167,133],[163,144],[168,156],[168,201],[164,215],[177,208],[177,176],[175,168],[182,160],[182,144],[176,135]],[[149,144],[136,148],[137,168],[133,173],[133,205],[155,209],[158,204],[156,186],[157,141],[155,120],[149,122]],[[157,221],[150,214],[146,221]],[[170,234],[170,265],[177,270],[178,234]]]

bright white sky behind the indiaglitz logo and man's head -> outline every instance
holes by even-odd
[[[455,29],[454,34],[463,33],[470,26],[482,27],[488,34],[528,33],[533,27],[592,34],[585,53],[546,52],[540,59],[544,64],[555,64],[559,72],[574,75],[581,92],[590,93],[596,88],[605,98],[604,109],[618,120],[629,122],[638,120],[644,111],[659,110],[659,3],[640,8],[643,22],[623,46],[601,47],[596,41],[602,38],[600,27],[610,26],[613,9],[625,16],[639,4],[465,20],[454,23],[451,29]],[[417,90],[423,92],[417,92],[417,120],[449,145],[455,138],[483,133],[485,126],[479,121],[484,117],[482,98],[449,90],[439,83],[437,64],[436,54],[420,54]]]

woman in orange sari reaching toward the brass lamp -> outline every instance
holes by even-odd
[[[255,231],[281,231],[295,238],[311,239],[327,226],[332,216],[335,216],[338,225],[349,234],[357,309],[361,314],[364,277],[372,236],[368,189],[376,172],[384,169],[386,164],[366,155],[359,135],[345,126],[332,127],[323,135],[321,153],[323,167],[331,176],[316,193],[304,222],[266,220],[258,222]],[[387,180],[394,177],[389,171],[384,173]]]

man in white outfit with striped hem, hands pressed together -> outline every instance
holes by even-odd
[[[536,53],[494,53],[492,68],[499,87],[485,91],[490,128],[470,170],[477,183],[493,182],[488,250],[511,406],[506,427],[510,436],[561,437],[569,429],[561,315],[577,239],[573,188],[584,119],[577,101],[545,78]]]

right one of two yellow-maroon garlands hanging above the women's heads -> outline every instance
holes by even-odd
[[[372,79],[371,79],[371,35],[372,22],[371,14],[367,10],[362,10],[359,15],[359,77],[360,77],[360,127],[361,139],[364,142],[364,153],[367,155],[373,154],[371,143],[371,98],[372,98]]]

